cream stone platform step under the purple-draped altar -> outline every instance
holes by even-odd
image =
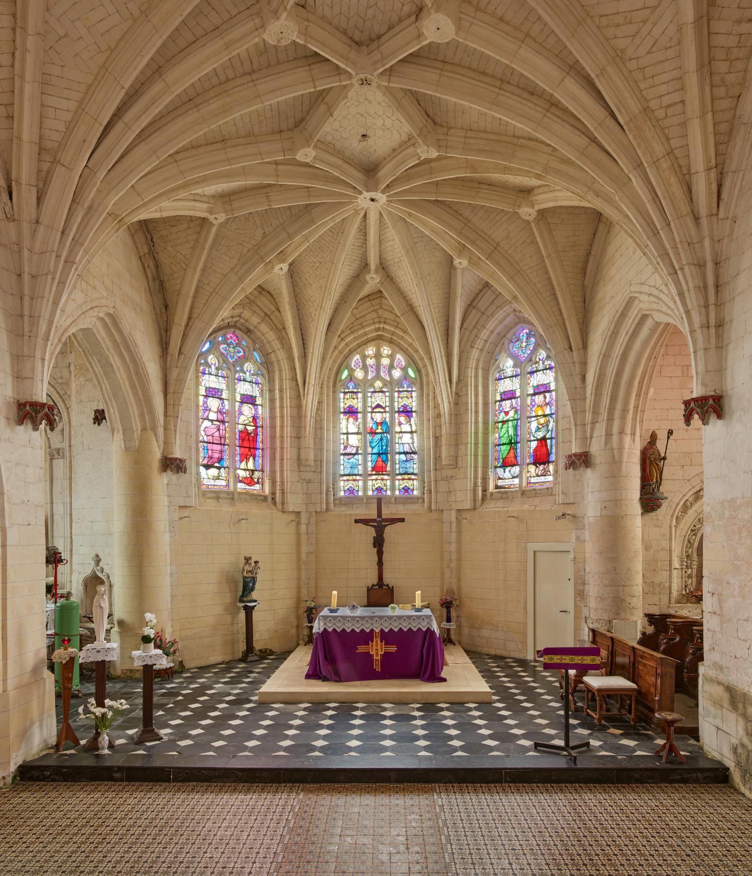
[[[311,646],[298,646],[259,690],[259,703],[490,703],[493,697],[465,651],[444,648],[446,682],[415,678],[378,682],[309,682],[305,679]]]

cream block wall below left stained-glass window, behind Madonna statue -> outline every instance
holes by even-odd
[[[237,660],[245,646],[238,608],[243,556],[259,558],[257,648],[289,651],[302,631],[298,515],[207,503],[178,509],[178,588],[172,632],[188,667]],[[257,505],[258,508],[258,505]]]

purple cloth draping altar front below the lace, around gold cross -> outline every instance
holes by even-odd
[[[326,682],[372,682],[389,678],[420,678],[422,682],[445,682],[443,643],[433,630],[382,631],[381,641],[396,651],[381,655],[381,671],[373,667],[369,651],[358,652],[373,641],[373,632],[323,630],[314,637],[308,679]]]

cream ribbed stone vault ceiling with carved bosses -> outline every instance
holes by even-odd
[[[713,348],[711,231],[733,205],[720,161],[734,180],[746,155],[724,145],[717,159],[713,129],[743,128],[740,4],[131,0],[89,17],[85,5],[4,3],[17,88],[0,118],[12,155],[0,194],[29,253],[30,362],[127,225],[167,298],[167,434],[202,339],[257,299],[276,308],[309,423],[325,351],[374,294],[444,411],[465,314],[489,288],[488,320],[535,321],[574,398],[599,223],[652,265],[693,355]]]

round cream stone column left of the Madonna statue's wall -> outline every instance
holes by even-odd
[[[138,448],[113,448],[115,563],[112,575],[115,628],[120,646],[117,671],[131,668],[131,651],[140,647],[144,612],[153,611],[157,628],[170,632],[169,540],[165,476],[152,432],[144,430]]]

